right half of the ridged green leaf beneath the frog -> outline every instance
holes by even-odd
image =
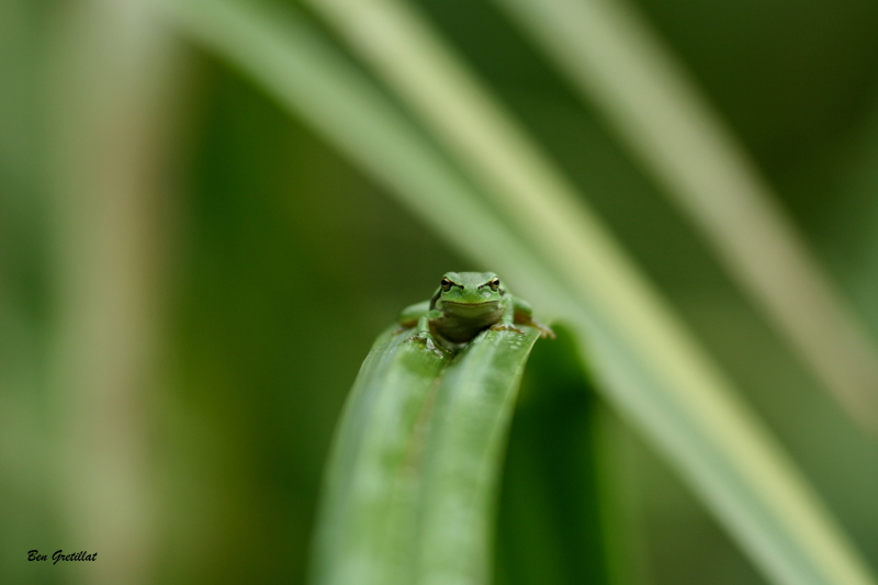
[[[486,331],[442,379],[424,462],[418,584],[489,582],[497,479],[537,337]]]

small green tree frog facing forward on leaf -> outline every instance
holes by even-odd
[[[514,297],[494,272],[446,272],[432,299],[399,313],[399,325],[417,327],[410,339],[437,352],[441,352],[437,342],[461,349],[485,329],[524,334],[516,324],[536,327],[542,337],[554,338],[552,329],[532,317],[530,305]]]

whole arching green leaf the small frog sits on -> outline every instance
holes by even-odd
[[[496,476],[538,334],[487,331],[453,362],[406,342],[410,335],[382,335],[351,390],[312,583],[488,581]]]

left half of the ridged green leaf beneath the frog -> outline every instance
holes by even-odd
[[[384,333],[353,384],[327,466],[312,583],[404,583],[408,473],[424,401],[451,360]]]

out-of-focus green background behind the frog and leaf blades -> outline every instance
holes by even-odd
[[[878,566],[875,439],[504,14],[417,3]],[[132,36],[155,42],[138,24],[148,9],[127,2],[120,30],[104,4],[0,4],[0,582],[304,583],[322,466],[371,341],[442,272],[492,267],[455,255],[199,46],[167,31],[148,58],[126,59]],[[878,4],[635,4],[878,337]],[[763,583],[650,445],[601,403],[577,408],[570,424],[588,430],[570,440],[601,477],[583,481],[603,486],[617,580]],[[558,416],[525,400],[510,452]],[[515,482],[515,461],[500,560],[508,503],[550,493]],[[105,558],[52,566],[26,562],[31,549]]]

